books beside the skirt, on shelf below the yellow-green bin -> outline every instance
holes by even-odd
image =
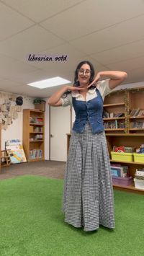
[[[111,164],[112,177],[129,177],[128,167],[121,166],[121,164]]]

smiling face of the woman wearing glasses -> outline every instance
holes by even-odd
[[[78,81],[80,84],[89,84],[91,69],[88,64],[84,64],[78,69]]]

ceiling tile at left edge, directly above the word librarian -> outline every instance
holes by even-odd
[[[63,40],[35,25],[4,42],[0,42],[0,53],[25,60],[30,53],[53,48],[62,43]]]

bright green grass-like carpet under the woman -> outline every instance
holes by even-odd
[[[63,221],[63,180],[0,181],[0,255],[144,255],[144,198],[114,191],[116,229],[84,232]]]

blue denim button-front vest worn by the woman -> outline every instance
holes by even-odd
[[[96,89],[96,94],[97,97],[94,97],[94,99],[88,102],[76,100],[76,97],[72,97],[73,108],[76,113],[73,131],[83,133],[86,122],[90,123],[92,133],[104,131],[104,122],[102,119],[103,99],[98,89]]]

